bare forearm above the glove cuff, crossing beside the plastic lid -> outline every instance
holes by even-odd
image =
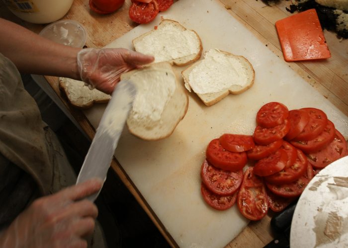
[[[20,72],[80,79],[77,54],[72,48],[47,40],[0,18],[0,53]]]

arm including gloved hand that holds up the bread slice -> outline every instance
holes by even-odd
[[[0,53],[20,72],[83,80],[108,94],[112,93],[121,73],[154,61],[153,56],[123,48],[64,46],[1,18]]]

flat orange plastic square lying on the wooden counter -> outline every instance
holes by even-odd
[[[275,23],[275,27],[285,61],[331,57],[315,9],[281,19]]]

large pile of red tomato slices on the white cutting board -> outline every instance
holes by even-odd
[[[301,195],[331,162],[348,155],[343,135],[315,108],[291,110],[277,102],[261,107],[253,136],[225,133],[213,139],[201,167],[201,193],[213,208],[237,202],[250,220],[278,212]],[[248,159],[254,166],[245,170]]]

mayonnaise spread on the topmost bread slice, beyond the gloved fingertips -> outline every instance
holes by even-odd
[[[134,48],[142,53],[156,55],[155,62],[163,62],[197,54],[200,43],[193,31],[165,25],[144,37],[142,42],[134,44]]]

